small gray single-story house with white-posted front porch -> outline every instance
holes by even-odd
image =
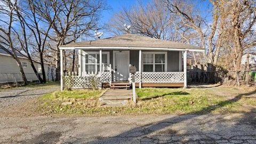
[[[70,43],[60,46],[60,50],[61,57],[63,50],[78,50],[78,75],[83,77],[96,73],[101,74],[102,78],[110,76],[109,80],[105,78],[104,82],[131,83],[129,66],[135,65],[135,82],[139,87],[186,87],[187,52],[205,51],[189,44],[134,34]],[[76,88],[83,88],[83,85],[79,84]]]

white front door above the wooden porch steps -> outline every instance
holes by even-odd
[[[129,78],[130,52],[114,51],[115,54],[115,80],[127,81]]]

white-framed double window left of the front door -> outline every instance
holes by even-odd
[[[84,52],[83,55],[84,69],[86,73],[99,73],[100,71],[100,54],[99,52]],[[109,52],[102,52],[102,71],[108,70]]]

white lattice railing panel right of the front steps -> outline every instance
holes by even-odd
[[[141,74],[137,71],[134,75],[135,83],[183,83],[184,73],[183,72],[142,72]],[[129,78],[131,81],[131,74]]]

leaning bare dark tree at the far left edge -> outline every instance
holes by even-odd
[[[23,67],[21,65],[21,62],[20,62],[18,56],[17,56],[17,52],[14,49],[13,40],[12,40],[12,36],[11,36],[13,15],[14,15],[13,13],[14,13],[15,6],[17,5],[17,0],[14,2],[9,1],[9,0],[4,0],[4,1],[2,1],[2,3],[3,3],[3,5],[0,6],[0,12],[5,14],[7,17],[9,17],[9,22],[0,20],[1,22],[5,23],[8,27],[7,30],[5,30],[2,27],[0,28],[0,31],[2,31],[2,33],[4,34],[4,35],[0,35],[0,37],[2,39],[2,41],[0,41],[0,49],[3,49],[7,53],[9,53],[13,57],[13,59],[17,62],[24,85],[28,85],[28,81],[27,81],[26,75],[24,73]],[[7,49],[6,47],[10,47],[10,50]]]

